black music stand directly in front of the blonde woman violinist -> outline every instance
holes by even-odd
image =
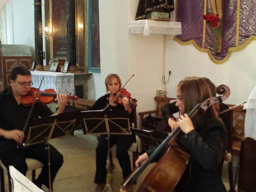
[[[86,134],[107,134],[108,140],[108,173],[106,177],[106,186],[112,192],[111,173],[110,173],[110,134],[131,134],[129,113],[124,110],[115,111],[82,111],[81,119],[84,122]]]

